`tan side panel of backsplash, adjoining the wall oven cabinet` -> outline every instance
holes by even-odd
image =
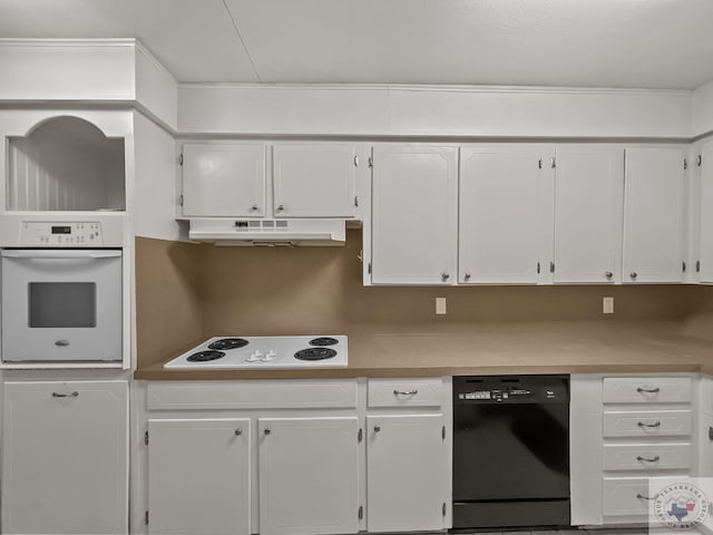
[[[197,249],[136,239],[136,344],[141,366],[203,337]]]

